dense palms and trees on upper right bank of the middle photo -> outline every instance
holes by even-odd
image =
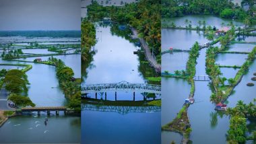
[[[141,0],[123,7],[103,7],[94,1],[88,6],[88,18],[93,21],[110,17],[114,22],[129,24],[144,38],[160,62],[161,24],[160,0]]]

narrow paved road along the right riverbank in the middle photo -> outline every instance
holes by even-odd
[[[137,36],[137,30],[135,30],[135,28],[131,28],[131,30],[133,31],[133,37],[134,38],[139,38]],[[146,41],[143,38],[139,38],[139,41],[141,42],[142,47],[145,50],[145,55],[146,58],[148,59],[148,61],[150,61],[151,65],[153,65],[153,67],[156,69],[156,71],[161,71],[161,65],[159,65],[156,62],[156,58],[152,56],[152,52],[150,51],[150,48],[148,47],[148,44],[146,43]]]

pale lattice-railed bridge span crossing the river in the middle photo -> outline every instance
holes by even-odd
[[[146,83],[128,83],[127,81],[121,81],[120,83],[101,83],[82,85],[82,94],[88,94],[92,92],[141,92],[141,93],[154,93],[161,94],[160,85],[150,85]]]

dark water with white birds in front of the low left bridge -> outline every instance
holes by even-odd
[[[77,116],[46,114],[9,118],[0,128],[0,143],[79,143],[81,120]]]

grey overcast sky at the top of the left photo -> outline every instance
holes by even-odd
[[[0,30],[80,30],[80,0],[0,0]]]

